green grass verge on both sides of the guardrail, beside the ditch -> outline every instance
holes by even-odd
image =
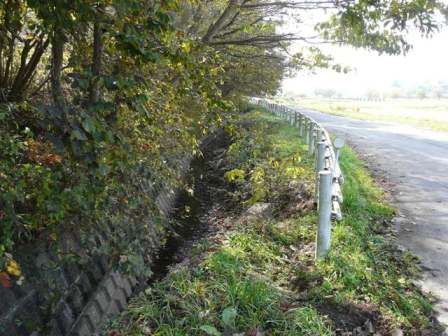
[[[306,147],[294,128],[265,112],[253,111],[243,123],[250,126],[236,132],[227,154],[231,170],[244,173],[233,180],[236,198],[245,206],[267,201],[279,211],[237,220],[218,244],[199,242],[198,264],[177,267],[148,287],[108,332],[333,335],[357,316],[375,319],[382,331],[431,328],[431,305],[411,283],[415,260],[384,237],[394,210],[354,152],[344,148],[341,155],[344,220],[334,226],[329,257],[316,263],[315,210],[287,210],[297,199],[285,198],[291,180],[313,185]],[[305,189],[301,196],[310,197]],[[340,307],[349,307],[345,315],[336,314]]]

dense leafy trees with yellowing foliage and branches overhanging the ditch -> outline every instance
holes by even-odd
[[[0,2],[0,253],[75,217],[76,229],[110,233],[116,262],[144,251],[152,231],[139,223],[154,204],[142,184],[175,184],[173,158],[197,152],[241,99],[275,94],[291,71],[343,70],[316,43],[404,53],[407,28],[434,32],[442,9],[435,0]],[[313,36],[282,26],[322,10],[329,17]],[[296,54],[293,41],[304,44]]]

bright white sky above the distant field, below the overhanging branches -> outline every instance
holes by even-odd
[[[283,90],[309,94],[317,88],[333,88],[357,95],[372,89],[387,90],[394,81],[405,85],[448,82],[448,29],[431,39],[415,34],[409,40],[414,48],[406,56],[379,56],[351,47],[326,46],[324,50],[334,55],[336,61],[355,70],[346,75],[329,70],[302,72],[285,79]]]

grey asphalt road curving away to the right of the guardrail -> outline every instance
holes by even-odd
[[[298,110],[386,174],[401,214],[395,220],[399,243],[421,258],[421,285],[438,298],[439,321],[448,324],[448,134]]]

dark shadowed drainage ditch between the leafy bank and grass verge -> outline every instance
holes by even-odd
[[[163,279],[171,266],[182,262],[192,245],[218,230],[220,219],[235,212],[229,185],[224,179],[225,154],[232,138],[220,130],[192,160],[187,186],[179,192],[170,216],[172,230],[152,266],[149,283]]]

